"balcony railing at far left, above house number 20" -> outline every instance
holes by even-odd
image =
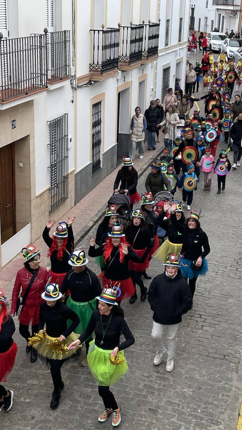
[[[47,87],[47,32],[5,39],[0,33],[0,100]]]

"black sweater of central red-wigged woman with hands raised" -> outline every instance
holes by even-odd
[[[88,255],[89,257],[98,257],[103,255],[104,246],[100,246],[95,249],[95,246],[90,246]],[[104,263],[104,276],[107,279],[111,279],[112,281],[122,281],[124,279],[128,279],[129,274],[129,260],[134,261],[134,263],[143,263],[146,258],[146,253],[144,253],[143,257],[139,258],[137,254],[132,250],[130,246],[128,246],[128,254],[124,255],[124,262],[120,263],[119,261],[119,252],[118,247],[113,246],[113,250],[110,255],[110,259]],[[113,258],[114,257],[114,258]],[[112,261],[113,260],[113,261]],[[112,262],[111,262],[112,261]]]

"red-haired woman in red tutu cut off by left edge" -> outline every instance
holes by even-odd
[[[6,382],[9,373],[15,363],[15,357],[18,347],[12,339],[15,332],[13,319],[7,313],[7,298],[4,297],[3,291],[0,291],[0,382]],[[0,411],[9,411],[12,408],[13,391],[6,390],[0,384]]]

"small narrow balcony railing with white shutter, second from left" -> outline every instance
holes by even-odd
[[[48,81],[55,82],[70,76],[70,30],[47,34]]]

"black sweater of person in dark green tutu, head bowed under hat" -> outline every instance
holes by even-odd
[[[67,272],[61,286],[62,294],[66,294],[68,288],[74,301],[90,301],[101,294],[98,276],[87,267],[80,273],[75,273],[74,270]]]

